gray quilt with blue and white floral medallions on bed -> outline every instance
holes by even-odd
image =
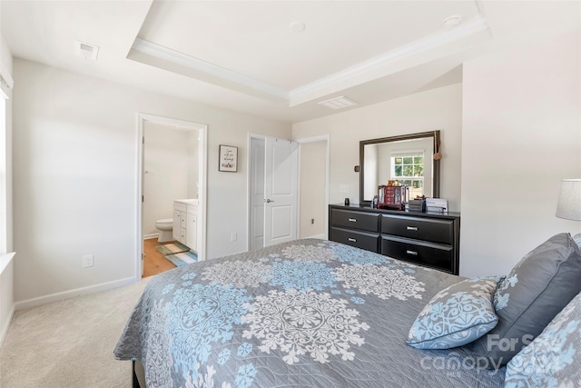
[[[497,387],[409,328],[458,276],[306,239],[188,264],[147,285],[114,350],[155,387]]]

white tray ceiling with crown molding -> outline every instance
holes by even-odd
[[[579,1],[8,1],[15,57],[296,123],[461,82],[479,55],[580,27]],[[459,15],[457,26],[446,27]],[[302,30],[302,31],[300,31]],[[74,41],[99,46],[96,61]]]

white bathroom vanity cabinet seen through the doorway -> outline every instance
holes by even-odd
[[[198,251],[198,200],[173,201],[173,238],[192,251]]]

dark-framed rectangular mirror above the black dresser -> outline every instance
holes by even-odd
[[[359,203],[370,204],[379,184],[397,180],[416,195],[439,198],[439,131],[359,142]]]

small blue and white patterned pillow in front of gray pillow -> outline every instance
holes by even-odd
[[[471,343],[498,323],[493,297],[497,279],[473,278],[443,289],[419,313],[407,343],[418,349],[449,349]]]

